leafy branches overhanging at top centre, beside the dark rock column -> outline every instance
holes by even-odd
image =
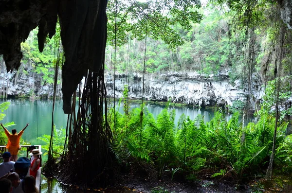
[[[158,40],[162,39],[174,49],[183,44],[180,35],[172,28],[180,24],[185,29],[191,28],[191,22],[200,22],[202,15],[197,11],[201,7],[199,0],[164,1],[109,1],[108,35],[110,43],[117,45],[127,42],[127,33],[141,40],[147,34]],[[167,11],[166,11],[167,10]]]

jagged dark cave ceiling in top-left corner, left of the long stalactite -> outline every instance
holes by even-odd
[[[20,43],[30,31],[39,26],[40,52],[47,34],[55,34],[57,0],[1,0],[0,1],[0,54],[7,71],[18,70],[22,53]]]

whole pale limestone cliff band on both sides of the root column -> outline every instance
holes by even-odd
[[[4,86],[7,94],[53,96],[53,85],[45,84],[41,81],[41,76],[30,70],[28,73],[15,71],[13,73],[2,73],[0,75],[0,89]],[[4,77],[3,77],[4,76]],[[106,74],[106,87],[108,97],[121,98],[123,96],[124,85],[127,84],[128,76],[116,74],[115,93],[113,91],[114,78]],[[7,84],[8,80],[8,84]],[[59,85],[60,90],[61,85]],[[245,90],[241,89],[241,83],[235,81],[230,84],[227,72],[219,76],[204,76],[195,72],[189,73],[168,73],[153,76],[146,74],[144,80],[143,95],[143,75],[132,74],[129,77],[129,97],[131,99],[142,99],[142,96],[149,101],[167,101],[170,97],[174,103],[189,105],[232,105],[236,100],[244,100]],[[61,92],[59,97],[61,97]],[[263,89],[259,80],[253,78],[252,104],[255,105],[262,98]]]

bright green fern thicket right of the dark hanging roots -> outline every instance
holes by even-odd
[[[178,168],[188,176],[195,176],[208,167],[215,169],[210,175],[213,177],[242,178],[261,174],[261,167],[272,149],[275,119],[268,114],[246,127],[239,121],[238,112],[230,121],[216,112],[209,123],[204,123],[200,115],[191,120],[183,114],[175,126],[175,112],[169,109],[169,104],[156,119],[145,107],[143,112],[141,116],[141,108],[132,109],[128,126],[122,121],[125,115],[117,114],[115,125],[118,127],[113,129],[115,137],[111,148],[122,162],[127,163],[134,157],[154,164],[158,178],[163,172],[171,172],[173,178]],[[286,128],[287,123],[278,125],[276,145],[281,147],[281,158],[284,155],[290,158],[290,153],[283,151],[290,145],[290,140],[283,144]]]

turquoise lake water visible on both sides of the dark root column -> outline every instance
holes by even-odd
[[[4,111],[6,117],[2,120],[3,123],[14,122],[16,125],[9,129],[16,128],[18,131],[22,129],[26,123],[29,123],[29,127],[22,135],[22,139],[28,141],[31,144],[44,145],[41,140],[37,140],[37,137],[51,134],[52,124],[52,100],[19,100],[8,99],[1,102],[8,101],[11,103],[9,108]],[[63,113],[63,103],[56,101],[54,112],[54,123],[60,127],[66,127],[67,115]],[[130,109],[140,107],[141,104],[131,104]],[[148,111],[156,118],[157,115],[164,109],[164,105],[146,104]],[[204,121],[208,122],[214,117],[214,111],[211,109],[195,109],[192,107],[171,107],[175,109],[176,117],[175,123],[178,122],[180,116],[184,113],[190,116],[191,119],[195,119],[198,114],[204,116]],[[121,104],[119,111],[123,113],[123,104]],[[230,119],[231,115],[227,116]]]

